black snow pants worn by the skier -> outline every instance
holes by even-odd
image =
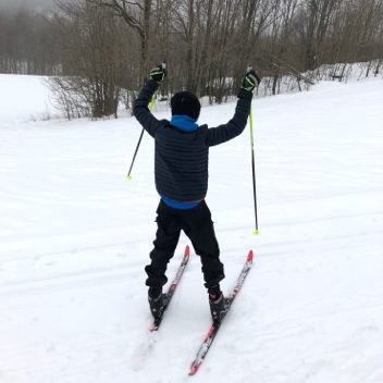
[[[166,282],[166,267],[174,256],[181,231],[192,240],[202,263],[205,287],[208,289],[224,279],[220,248],[211,213],[205,200],[194,209],[172,209],[161,200],[157,209],[157,234],[150,252],[151,263],[145,268],[146,285],[160,289]]]

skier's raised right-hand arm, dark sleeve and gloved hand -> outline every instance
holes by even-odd
[[[257,76],[256,72],[249,67],[238,92],[238,101],[233,119],[226,124],[208,129],[208,146],[226,143],[234,137],[239,136],[239,134],[244,132],[247,124],[247,118],[250,113],[252,94],[259,83],[260,78]]]

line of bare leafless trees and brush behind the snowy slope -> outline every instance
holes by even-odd
[[[322,64],[374,60],[379,71],[382,59],[383,0],[59,0],[0,15],[0,72],[57,75],[69,116],[129,108],[162,60],[163,96],[222,102],[248,63],[275,94],[283,76],[300,87]]]

